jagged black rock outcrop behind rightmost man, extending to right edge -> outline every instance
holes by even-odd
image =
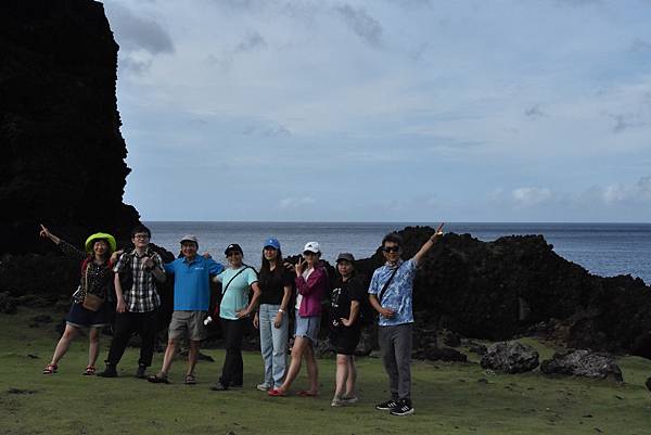
[[[433,231],[399,231],[403,257],[413,256]],[[357,267],[372,273],[383,261],[379,250]],[[629,276],[592,276],[557,255],[541,235],[482,242],[470,234],[446,234],[420,266],[413,306],[426,328],[463,336],[509,340],[563,319],[564,327],[554,331],[563,345],[651,357],[651,289]]]

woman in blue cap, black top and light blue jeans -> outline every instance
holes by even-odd
[[[288,306],[293,282],[294,278],[283,266],[280,242],[267,239],[258,276],[263,291],[260,307],[253,319],[253,325],[260,330],[260,353],[265,362],[265,380],[257,385],[261,392],[282,385],[285,375],[290,334]]]

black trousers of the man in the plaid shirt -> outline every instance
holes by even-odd
[[[115,315],[115,324],[113,327],[113,341],[108,350],[106,364],[117,366],[125,349],[129,345],[129,340],[135,332],[138,332],[141,340],[140,359],[138,364],[150,367],[154,356],[154,338],[156,337],[156,314],[149,312],[117,312]]]

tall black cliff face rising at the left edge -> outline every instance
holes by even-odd
[[[77,243],[138,222],[123,204],[117,49],[99,2],[0,2],[0,254],[51,248],[39,222]]]

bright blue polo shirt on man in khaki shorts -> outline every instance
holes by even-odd
[[[188,261],[177,258],[164,265],[166,273],[174,273],[174,310],[207,311],[210,304],[210,274],[218,274],[224,266],[212,258],[197,255]]]

